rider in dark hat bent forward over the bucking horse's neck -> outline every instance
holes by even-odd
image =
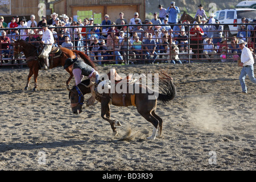
[[[75,77],[76,86],[81,83],[82,78],[84,76],[88,76],[90,78],[90,89],[92,93],[92,97],[89,98],[88,101],[86,101],[87,105],[93,105],[96,100],[96,92],[95,92],[95,82],[98,84],[98,80],[100,76],[98,75],[98,72],[90,67],[88,64],[84,63],[84,61],[77,60],[77,59],[71,59],[68,58],[65,61],[64,69],[72,67],[72,72]]]

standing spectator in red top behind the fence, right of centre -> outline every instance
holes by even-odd
[[[203,52],[203,39],[202,35],[204,35],[204,31],[202,28],[199,27],[197,22],[194,22],[194,26],[190,30],[190,36],[191,36],[191,48],[193,54],[193,58],[196,58],[197,53]],[[199,57],[197,57],[199,58]]]

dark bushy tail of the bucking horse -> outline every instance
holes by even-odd
[[[162,101],[164,104],[173,100],[176,96],[176,89],[171,79],[164,79],[159,81],[159,93],[158,100]]]

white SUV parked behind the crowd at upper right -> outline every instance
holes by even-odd
[[[256,9],[225,9],[216,11],[214,13],[214,18],[220,23],[241,23],[241,18],[245,17],[252,21],[256,17]],[[224,30],[228,30],[228,36],[231,37],[234,34],[237,34],[237,25],[224,25]]]

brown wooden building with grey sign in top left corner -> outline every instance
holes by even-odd
[[[36,16],[36,21],[39,21],[38,5],[40,0],[0,0],[0,16],[5,18],[5,22],[11,21],[13,16],[18,15],[20,18],[23,16],[30,20],[30,15]]]

